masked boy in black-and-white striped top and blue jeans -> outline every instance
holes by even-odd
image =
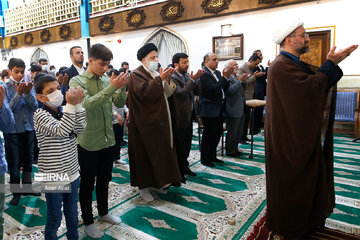
[[[66,219],[66,236],[68,239],[78,239],[77,202],[80,174],[76,137],[86,126],[85,109],[81,105],[84,92],[81,88],[69,89],[65,96],[67,104],[62,110],[64,97],[55,77],[51,75],[40,77],[35,90],[36,98],[44,103],[44,106],[34,114],[39,145],[38,168],[41,174],[39,176],[46,184],[45,190],[54,190],[45,193],[47,204],[45,239],[57,239],[56,232],[62,219],[62,204]],[[59,182],[61,180],[66,182]],[[56,191],[67,190],[69,186],[71,191],[68,193]]]

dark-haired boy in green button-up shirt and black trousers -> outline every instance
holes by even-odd
[[[105,74],[113,55],[102,44],[90,48],[89,67],[71,79],[70,87],[80,86],[84,93],[82,105],[86,109],[87,126],[78,136],[80,164],[80,206],[85,232],[91,238],[104,233],[94,224],[92,191],[96,179],[96,200],[99,220],[119,224],[120,218],[108,213],[108,187],[114,158],[115,138],[112,128],[112,103],[122,107],[126,100],[125,86],[128,74],[107,77]]]

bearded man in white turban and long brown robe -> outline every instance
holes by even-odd
[[[357,46],[339,52],[333,47],[324,64],[311,70],[299,61],[300,55],[309,50],[310,41],[302,22],[290,23],[275,35],[274,41],[282,51],[268,72],[266,225],[283,237],[302,238],[324,227],[335,207],[334,86],[342,77],[338,63]],[[324,118],[326,106],[330,109],[328,118]]]

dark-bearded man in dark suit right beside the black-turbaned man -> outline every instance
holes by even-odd
[[[185,180],[184,174],[196,176],[196,173],[189,168],[187,158],[191,150],[193,132],[191,113],[194,108],[194,94],[199,95],[198,79],[205,72],[205,70],[198,70],[195,75],[193,72],[189,75],[188,57],[185,53],[176,53],[173,56],[172,62],[176,72],[171,75],[170,80],[176,84],[176,89],[169,98],[176,155],[183,180]]]

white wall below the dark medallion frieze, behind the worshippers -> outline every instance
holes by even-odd
[[[284,21],[297,18],[303,19],[305,28],[321,28],[335,26],[335,45],[340,49],[350,44],[360,44],[360,31],[357,25],[360,22],[359,0],[320,0],[297,5],[290,5],[275,9],[259,10],[255,12],[234,14],[230,16],[205,19],[181,24],[166,25],[165,27],[182,36],[190,53],[190,68],[196,70],[200,67],[205,53],[212,51],[212,37],[221,35],[221,25],[232,24],[233,34],[244,34],[244,60],[246,61],[252,51],[261,49],[264,55],[264,64],[267,60],[276,57],[276,45],[272,40],[274,31]],[[130,68],[139,65],[136,52],[144,40],[156,28],[148,28],[125,33],[116,33],[91,38],[91,44],[103,43],[114,54],[112,64],[119,68],[122,61],[128,61]],[[309,30],[313,31],[313,30]],[[121,39],[121,43],[118,43]],[[50,57],[50,63],[57,68],[70,65],[69,48],[81,45],[86,50],[85,40],[66,41],[43,45],[42,48]],[[14,57],[21,57],[29,64],[34,47],[24,47],[12,51]],[[244,61],[239,61],[242,64]],[[354,52],[349,59],[340,64],[345,75],[360,75],[360,49]],[[4,68],[7,63],[0,63]],[[220,62],[222,69],[224,62]],[[359,77],[360,86],[360,77]],[[354,83],[356,84],[356,83]]]

